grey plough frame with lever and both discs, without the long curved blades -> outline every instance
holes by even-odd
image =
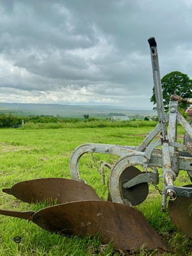
[[[183,187],[174,186],[174,181],[180,170],[188,172],[190,180],[192,179],[192,129],[178,111],[179,102],[192,104],[192,100],[172,95],[169,111],[165,115],[155,38],[149,38],[148,43],[150,45],[159,123],[138,147],[104,144],[80,145],[70,159],[70,173],[72,179],[83,181],[79,175],[78,163],[81,156],[87,152],[119,156],[120,159],[116,161],[109,173],[108,185],[111,200],[134,206],[141,204],[147,198],[148,183],[154,184],[157,188],[159,177],[161,177],[157,168],[162,168],[163,191],[159,189],[162,194],[162,211],[166,210],[168,199],[168,211],[173,223],[182,232],[192,237],[192,229],[189,228],[191,213],[188,212],[189,209],[192,209],[192,184]],[[177,122],[186,131],[184,143],[177,141]],[[160,138],[154,140],[157,134],[160,134]],[[158,148],[159,146],[161,148]],[[141,166],[144,172],[141,172],[136,166]],[[179,208],[182,209],[182,212],[186,212],[188,218],[180,218]]]

